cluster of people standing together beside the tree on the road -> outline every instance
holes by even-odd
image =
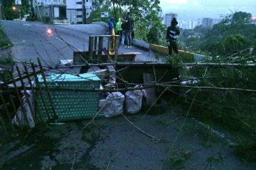
[[[109,24],[109,32],[112,34],[114,29],[113,25],[114,18],[110,17]],[[118,19],[118,23],[116,23],[116,34],[121,36],[121,45],[125,45],[125,48],[131,48],[132,39],[134,38],[134,19],[131,17],[131,12],[127,12],[127,16],[125,19],[121,17]]]

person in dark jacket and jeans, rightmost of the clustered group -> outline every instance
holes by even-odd
[[[131,17],[130,12],[127,12],[125,23],[125,41],[127,43],[126,48],[131,48],[131,32],[134,28],[134,19]]]

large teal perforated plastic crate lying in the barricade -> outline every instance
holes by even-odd
[[[42,87],[44,85],[44,79],[42,75],[38,76],[39,83]],[[72,88],[87,88],[87,89],[99,89],[100,78],[95,74],[80,74],[75,76],[71,74],[51,74],[46,76],[46,82],[48,87],[72,87]],[[99,92],[75,92],[75,91],[50,91],[55,105],[55,111],[57,113],[57,121],[65,120],[80,120],[85,118],[93,118],[98,112],[98,105],[100,100]],[[46,89],[44,88],[44,99],[48,108],[50,119],[53,118],[53,109],[51,107],[50,100]],[[37,103],[42,114],[42,118],[46,121],[48,116],[42,97],[37,90]],[[39,118],[39,114],[37,114]]]

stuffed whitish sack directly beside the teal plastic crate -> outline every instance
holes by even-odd
[[[124,102],[125,96],[122,93],[109,93],[105,103],[104,100],[101,102],[102,107],[104,107],[102,108],[102,114],[104,114],[106,118],[112,118],[122,114]]]

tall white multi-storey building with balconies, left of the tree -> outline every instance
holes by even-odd
[[[68,23],[86,23],[93,11],[93,0],[66,0]]]

